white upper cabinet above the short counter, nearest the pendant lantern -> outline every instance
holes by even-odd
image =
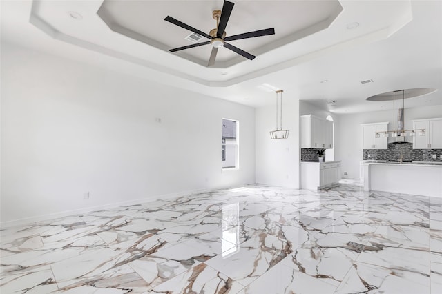
[[[333,148],[333,122],[301,115],[301,148]]]

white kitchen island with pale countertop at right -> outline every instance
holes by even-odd
[[[361,161],[363,190],[442,198],[442,164]]]

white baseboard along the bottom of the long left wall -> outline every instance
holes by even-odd
[[[100,205],[100,206],[90,206],[90,207],[79,208],[79,209],[74,209],[74,210],[64,210],[59,213],[50,213],[47,215],[37,215],[35,217],[25,217],[22,219],[13,219],[13,220],[6,221],[6,222],[0,222],[0,228],[3,229],[3,228],[12,228],[15,226],[26,226],[26,225],[34,224],[35,222],[42,222],[42,221],[46,221],[46,220],[50,220],[50,219],[56,219],[59,217],[68,217],[71,215],[81,215],[84,213],[91,213],[93,211],[98,211],[98,210],[103,210],[103,209],[112,209],[112,208],[117,208],[117,207],[121,207],[121,206],[132,206],[132,205],[143,204],[143,203],[147,203],[147,202],[153,202],[158,199],[178,198],[178,197],[182,197],[182,196],[186,196],[186,195],[190,195],[190,194],[195,194],[195,193],[208,193],[213,190],[219,190],[219,189],[220,188],[211,188],[211,189],[204,188],[204,189],[190,190],[190,191],[186,191],[186,192],[171,193],[171,194],[165,194],[165,195],[155,195],[153,197],[148,197],[148,198],[141,198],[141,199],[124,201],[124,202],[115,202],[115,203],[104,204],[104,205]]]

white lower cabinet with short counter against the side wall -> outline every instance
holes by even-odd
[[[301,186],[317,190],[340,180],[340,161],[301,162]]]

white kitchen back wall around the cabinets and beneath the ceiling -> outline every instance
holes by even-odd
[[[442,117],[442,106],[425,106],[419,108],[405,108],[405,129],[412,128],[412,119],[427,119]],[[388,121],[389,130],[393,130],[393,110],[378,112],[356,113],[339,115],[340,124],[335,128],[338,134],[339,148],[335,148],[336,155],[342,160],[341,170],[349,179],[359,178],[359,163],[363,159],[361,124]],[[397,126],[397,123],[395,122]],[[389,141],[392,141],[390,138]]]

